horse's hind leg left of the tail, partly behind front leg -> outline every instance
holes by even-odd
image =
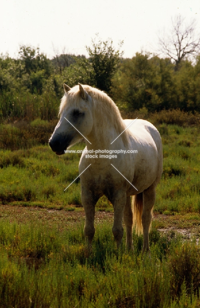
[[[126,226],[126,248],[133,249],[133,212],[131,209],[131,197],[127,197],[126,205],[124,208],[123,221]]]

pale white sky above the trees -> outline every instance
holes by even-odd
[[[56,51],[85,54],[99,33],[117,47],[124,40],[124,57],[157,51],[157,35],[181,14],[197,19],[199,0],[0,0],[0,54],[17,57],[20,45],[40,47],[49,58]]]

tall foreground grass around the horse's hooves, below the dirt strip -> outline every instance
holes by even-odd
[[[60,232],[56,224],[3,220],[1,307],[195,307],[200,287],[195,241],[161,236],[153,228],[152,259],[141,255],[142,236],[133,241],[134,252],[125,251],[124,239],[117,250],[105,222],[97,225],[89,250],[82,224]]]

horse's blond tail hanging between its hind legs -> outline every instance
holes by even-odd
[[[143,211],[143,193],[132,196],[133,225],[136,225],[135,233],[143,233],[142,211]]]

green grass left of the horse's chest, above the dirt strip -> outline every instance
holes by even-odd
[[[79,144],[73,148],[84,148]],[[51,205],[80,205],[80,183],[64,189],[78,176],[79,154],[58,157],[49,146],[14,152],[2,151],[0,157],[0,200]]]

